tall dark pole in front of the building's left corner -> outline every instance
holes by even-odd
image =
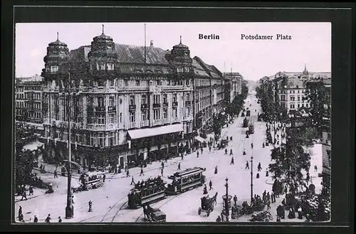
[[[74,207],[72,204],[72,191],[71,191],[71,186],[70,182],[72,179],[72,166],[71,166],[71,149],[70,149],[70,73],[68,73],[68,106],[67,106],[67,112],[68,112],[68,188],[67,188],[67,206],[66,206],[66,218],[73,218],[74,215]]]

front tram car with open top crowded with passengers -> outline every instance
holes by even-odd
[[[164,198],[165,193],[164,181],[160,177],[147,179],[135,184],[135,188],[132,188],[131,193],[127,195],[128,207],[135,209],[146,204],[148,205]]]

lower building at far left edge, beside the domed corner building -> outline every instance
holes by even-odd
[[[42,92],[44,79],[39,75],[15,79],[15,121],[43,130]]]

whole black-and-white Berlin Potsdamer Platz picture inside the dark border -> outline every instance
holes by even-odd
[[[330,22],[16,23],[14,222],[330,222]]]

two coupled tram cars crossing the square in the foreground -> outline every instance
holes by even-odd
[[[140,206],[145,206],[150,203],[155,203],[166,196],[184,193],[190,189],[202,186],[205,182],[205,176],[200,167],[179,171],[169,176],[172,179],[172,184],[164,185],[161,177],[155,179],[147,179],[146,181],[137,182],[131,192],[127,194],[128,208],[135,209]]]

